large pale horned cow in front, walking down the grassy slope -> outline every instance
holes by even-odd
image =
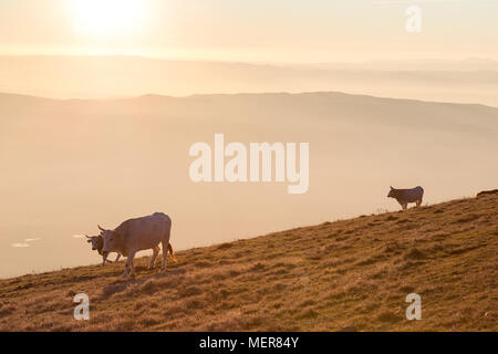
[[[166,270],[166,262],[168,252],[172,259],[176,262],[176,258],[173,254],[173,247],[169,243],[172,219],[163,212],[155,212],[151,216],[129,219],[122,222],[114,230],[106,230],[101,226],[97,226],[102,231],[104,239],[103,254],[107,257],[110,252],[120,252],[126,257],[126,264],[123,272],[123,278],[128,274],[128,268],[131,268],[129,275],[135,278],[135,267],[133,259],[136,252],[142,250],[152,249],[153,256],[148,264],[148,269],[152,270],[154,261],[159,253],[159,243],[163,244],[163,266],[160,270]]]

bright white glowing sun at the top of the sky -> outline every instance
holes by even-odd
[[[141,20],[142,4],[141,0],[72,0],[74,29],[97,38],[132,32]]]

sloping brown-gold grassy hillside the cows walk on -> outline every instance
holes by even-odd
[[[0,281],[0,329],[497,331],[497,236],[495,194],[190,249],[165,273],[144,257],[135,281],[123,262],[24,275]]]

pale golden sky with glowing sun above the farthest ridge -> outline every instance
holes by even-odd
[[[405,30],[408,6],[422,31]],[[496,0],[2,0],[0,54],[498,59]]]

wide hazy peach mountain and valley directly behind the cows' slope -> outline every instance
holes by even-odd
[[[494,188],[498,177],[498,110],[483,105],[325,92],[111,101],[2,94],[0,117],[0,277],[96,263],[73,235],[154,211],[172,217],[173,246],[187,249],[397,210],[390,185],[424,186],[425,205]],[[309,143],[309,190],[193,183],[189,147],[212,146],[215,133],[246,145]]]

